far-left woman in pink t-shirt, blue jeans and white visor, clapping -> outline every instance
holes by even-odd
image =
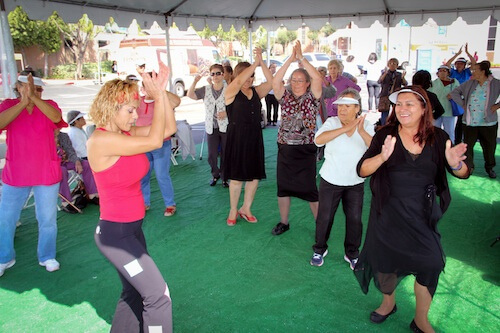
[[[8,147],[0,202],[0,276],[16,263],[16,222],[31,190],[39,225],[38,261],[49,272],[59,269],[56,218],[61,167],[54,130],[67,125],[57,104],[42,99],[42,86],[40,78],[21,75],[16,83],[19,97],[0,104],[0,133],[7,131]]]

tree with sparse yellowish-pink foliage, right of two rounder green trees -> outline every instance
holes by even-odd
[[[66,25],[59,16],[57,16],[54,22],[64,36],[64,43],[74,55],[76,63],[75,76],[76,79],[80,79],[87,45],[99,31],[94,28],[94,23],[89,19],[87,14],[83,14],[78,23],[69,23]]]

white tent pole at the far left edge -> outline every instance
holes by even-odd
[[[17,81],[17,66],[14,59],[14,44],[10,35],[9,21],[3,0],[0,0],[0,53],[3,94],[5,98],[15,98],[13,85]]]

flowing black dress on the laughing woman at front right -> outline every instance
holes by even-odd
[[[375,145],[386,134],[379,135]],[[436,199],[436,180],[443,173],[439,172],[441,163],[436,163],[442,162],[442,158],[436,156],[440,151],[436,146],[445,140],[426,144],[420,155],[412,155],[404,148],[399,135],[396,138],[391,158],[381,166],[388,193],[380,204],[380,192],[374,192],[365,244],[354,273],[364,293],[368,292],[373,278],[382,293],[392,294],[398,283],[412,274],[433,295],[444,268],[436,224],[447,204],[440,207]],[[374,151],[377,149],[372,149],[369,155]],[[359,165],[369,155],[365,155]],[[380,175],[374,176],[380,178]],[[377,188],[376,181],[372,182],[372,191],[374,184]]]

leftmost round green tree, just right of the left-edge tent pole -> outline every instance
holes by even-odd
[[[21,50],[23,61],[26,63],[26,48],[36,43],[36,23],[30,20],[23,7],[17,6],[8,15],[10,34],[14,47]]]

